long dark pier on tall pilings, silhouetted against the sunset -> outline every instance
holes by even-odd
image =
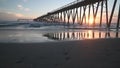
[[[109,0],[76,0],[65,6],[62,6],[56,10],[48,12],[42,15],[34,21],[48,22],[48,23],[64,23],[69,26],[72,24],[88,25],[93,28],[99,25],[102,28],[102,24],[105,24],[106,29],[111,29],[114,16],[117,20],[114,20],[116,30],[119,30],[120,23],[120,4],[118,0],[113,0],[111,5],[108,5]],[[118,3],[118,5],[117,5]],[[117,13],[115,10],[119,6]],[[111,8],[111,10],[109,10]]]

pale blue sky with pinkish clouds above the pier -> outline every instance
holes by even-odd
[[[0,20],[37,18],[73,1],[74,0],[0,0]],[[118,3],[120,3],[120,0],[118,1]]]

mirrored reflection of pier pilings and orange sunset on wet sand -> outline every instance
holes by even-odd
[[[120,38],[119,32],[113,31],[70,31],[60,33],[47,33],[45,37],[53,40],[84,40],[84,39],[100,39],[100,38]]]

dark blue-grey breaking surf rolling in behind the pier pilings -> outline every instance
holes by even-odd
[[[3,21],[0,22],[0,29],[40,29],[40,28],[47,28],[50,26],[64,26],[64,23],[45,23],[45,22],[28,22],[28,21]],[[72,24],[70,24],[70,26],[72,27]],[[83,25],[80,26],[79,24],[75,24],[75,27],[80,27],[80,28],[86,28],[86,27],[90,27],[87,25]],[[96,27],[99,27],[99,25],[96,25]],[[106,27],[106,24],[103,24],[102,27]],[[113,23],[111,24],[112,28],[116,27],[116,24]]]

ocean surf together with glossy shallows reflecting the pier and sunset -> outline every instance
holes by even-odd
[[[115,30],[68,29],[64,24],[33,21],[0,22],[0,42],[40,43],[87,39],[120,38]],[[79,25],[75,25],[79,27]]]

